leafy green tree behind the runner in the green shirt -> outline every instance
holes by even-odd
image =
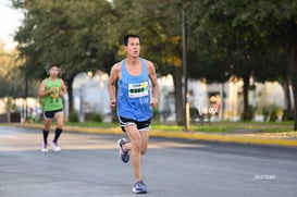
[[[58,63],[69,88],[79,72],[106,70],[114,49],[109,44],[114,16],[108,1],[12,0],[25,20],[15,35],[29,77],[46,76],[47,63]],[[111,49],[111,50],[109,50]],[[108,59],[106,58],[108,57]],[[109,62],[111,64],[111,62]],[[25,67],[25,65],[24,65]]]

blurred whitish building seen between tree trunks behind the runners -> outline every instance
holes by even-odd
[[[108,94],[108,74],[97,72],[94,76],[87,73],[78,74],[73,83],[74,107],[81,114],[98,112],[102,115],[110,112]],[[159,111],[170,112],[168,118],[175,119],[175,97],[172,75],[158,78],[160,85]],[[256,120],[262,120],[262,109],[276,107],[284,109],[284,90],[279,83],[256,83],[256,88],[249,90],[249,103],[256,107]],[[236,121],[243,112],[243,82],[226,82],[224,84],[206,84],[200,81],[188,82],[189,106],[201,108],[220,106],[219,120]],[[222,102],[223,98],[223,102]],[[293,100],[293,98],[292,98]]]

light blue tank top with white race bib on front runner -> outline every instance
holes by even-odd
[[[141,74],[132,76],[122,61],[122,78],[117,82],[117,115],[135,121],[147,121],[152,116],[150,108],[149,73],[144,59]]]

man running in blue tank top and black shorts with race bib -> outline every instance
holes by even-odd
[[[132,151],[131,159],[135,175],[133,192],[139,194],[147,193],[141,175],[141,157],[148,148],[151,107],[158,106],[159,85],[154,65],[139,58],[139,36],[125,36],[124,48],[127,57],[112,66],[108,88],[110,107],[111,109],[116,107],[121,128],[129,138],[129,141],[125,138],[117,140],[120,156],[122,161],[127,163]]]

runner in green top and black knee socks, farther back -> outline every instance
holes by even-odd
[[[42,152],[48,152],[48,136],[53,119],[57,121],[57,128],[51,146],[53,151],[61,151],[61,148],[58,146],[58,140],[63,131],[64,124],[64,107],[62,98],[66,95],[67,90],[63,79],[58,77],[59,70],[60,67],[57,64],[52,64],[49,67],[49,77],[41,82],[38,91],[38,96],[42,100],[45,118]]]

